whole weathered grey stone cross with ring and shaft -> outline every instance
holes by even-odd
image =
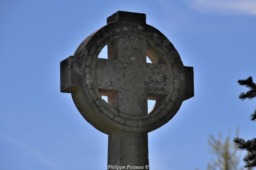
[[[98,58],[105,45],[108,59]],[[148,169],[147,133],[194,96],[193,67],[183,66],[171,42],[146,24],[145,14],[118,11],[60,63],[60,88],[71,93],[91,125],[109,135],[109,169]],[[148,99],[156,100],[150,113]]]

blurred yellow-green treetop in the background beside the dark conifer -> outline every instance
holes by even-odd
[[[230,141],[230,134],[223,141],[221,133],[218,138],[210,135],[208,143],[213,159],[208,163],[207,170],[243,170],[239,167],[237,147]]]

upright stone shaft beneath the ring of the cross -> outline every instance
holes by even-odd
[[[118,130],[109,135],[108,165],[148,165],[147,133]],[[118,163],[118,164],[117,164]]]

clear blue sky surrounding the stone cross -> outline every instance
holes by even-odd
[[[255,0],[1,0],[1,170],[106,169],[108,136],[60,93],[59,63],[116,11],[145,13],[194,67],[195,97],[148,134],[151,170],[205,169],[210,134],[255,137],[255,101],[237,84],[256,81]]]

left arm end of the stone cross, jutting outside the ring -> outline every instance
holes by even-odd
[[[60,62],[60,91],[71,93],[81,87],[80,83],[80,56],[69,56]]]

